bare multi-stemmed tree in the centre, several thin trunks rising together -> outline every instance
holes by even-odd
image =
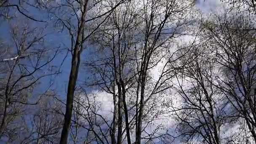
[[[109,21],[107,25],[102,26],[103,28],[100,27],[99,33],[96,33],[94,38],[96,43],[100,45],[99,51],[96,51],[96,53],[98,54],[98,57],[102,56],[103,58],[95,58],[95,60],[94,58],[91,58],[86,64],[87,67],[91,67],[92,73],[95,75],[92,84],[99,86],[102,90],[113,95],[114,112],[111,132],[112,142],[115,142],[116,119],[118,125],[117,143],[120,143],[122,139],[121,136],[124,132],[122,132],[122,134],[120,133],[123,131],[123,112],[125,117],[125,136],[127,136],[128,143],[131,143],[131,137],[134,137],[130,136],[129,133],[133,132],[134,127],[135,131],[137,131],[136,127],[139,124],[139,109],[141,109],[139,106],[141,82],[138,77],[141,77],[142,75],[141,67],[143,64],[141,63],[143,60],[144,63],[147,64],[147,66],[145,66],[147,68],[145,68],[144,72],[143,89],[147,87],[147,93],[149,94],[146,96],[145,100],[143,100],[145,104],[141,106],[145,109],[145,114],[143,114],[143,117],[141,116],[140,120],[141,123],[144,121],[145,125],[142,126],[143,128],[141,128],[140,131],[145,131],[147,126],[152,124],[152,122],[160,115],[160,112],[155,110],[157,107],[156,104],[158,104],[157,102],[160,102],[161,99],[160,96],[157,97],[157,95],[160,95],[160,93],[171,87],[166,84],[166,81],[173,77],[173,69],[167,70],[167,67],[171,62],[176,61],[170,52],[172,50],[168,49],[168,47],[171,46],[170,43],[173,38],[182,35],[180,29],[187,24],[185,19],[183,19],[183,21],[181,19],[172,18],[171,16],[185,13],[186,8],[189,8],[189,5],[187,5],[187,7],[185,5],[179,5],[180,7],[176,7],[178,8],[176,9],[174,7],[171,8],[173,5],[178,5],[178,2],[176,3],[176,1],[167,3],[167,7],[162,5],[164,4],[163,1],[152,3],[145,1],[144,4],[144,6],[139,7],[136,11],[132,5],[128,4],[124,6],[125,8],[122,8],[121,10],[117,8],[112,13],[110,18],[111,21]],[[144,11],[146,7],[151,4],[155,9],[152,11]],[[164,14],[161,12],[156,14],[156,10],[158,9],[164,11]],[[144,13],[141,13],[143,11]],[[123,15],[121,14],[122,12]],[[146,20],[141,19],[144,16],[146,16]],[[159,22],[157,18],[161,18],[162,16],[166,17]],[[124,21],[125,18],[126,21]],[[173,27],[169,26],[168,24],[172,20],[177,21],[177,25],[174,25]],[[150,21],[152,25],[147,25],[145,28],[144,24],[147,24],[148,21]],[[165,24],[167,26],[165,26]],[[143,29],[141,29],[141,27],[143,27]],[[145,34],[144,32],[144,29],[147,28],[149,34]],[[131,31],[133,31],[133,33],[130,33]],[[147,39],[145,39],[145,37]],[[149,43],[149,49],[145,50],[143,43]],[[149,55],[149,58],[144,56],[145,53]],[[165,62],[165,59],[169,59],[169,61],[167,60],[167,62],[164,63],[163,69],[160,70],[160,77],[157,80],[152,79],[148,74],[149,69],[155,68],[161,61]],[[136,67],[134,67],[134,65]],[[126,99],[129,99],[129,105],[126,104]],[[157,99],[159,101],[157,101]],[[146,116],[149,114],[152,115]],[[143,136],[143,139],[146,139],[147,141],[160,139],[161,136],[155,136],[158,131],[157,129],[159,128],[156,128],[156,131],[153,133],[145,132],[145,135],[147,136]],[[139,138],[139,141],[141,141],[141,138]]]

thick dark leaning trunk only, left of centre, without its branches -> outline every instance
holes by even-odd
[[[77,82],[78,70],[80,65],[80,54],[82,52],[81,43],[82,43],[83,29],[85,27],[85,16],[87,12],[87,9],[86,9],[87,4],[88,4],[88,0],[85,1],[85,4],[83,6],[83,12],[82,12],[82,17],[80,21],[81,24],[77,32],[77,40],[75,43],[75,48],[72,56],[72,65],[71,65],[71,71],[69,75],[69,83],[68,83],[68,89],[67,89],[66,112],[64,116],[64,125],[61,132],[60,144],[67,144],[69,128],[71,125],[73,99],[74,99],[75,86]]]

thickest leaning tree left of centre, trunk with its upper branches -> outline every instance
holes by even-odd
[[[70,51],[72,52],[72,63],[67,88],[64,127],[60,139],[61,144],[67,144],[69,135],[80,57],[85,48],[83,43],[85,43],[88,37],[90,37],[93,32],[107,20],[109,13],[112,13],[118,5],[124,2],[126,2],[126,0],[119,1],[114,7],[108,7],[106,6],[108,3],[105,1],[66,0],[63,3],[57,3],[56,5],[53,3],[52,7],[49,8],[50,13],[52,13],[57,20],[56,24],[60,24],[63,29],[67,29],[69,36],[71,37]],[[102,8],[102,6],[104,6],[104,8]],[[69,14],[66,14],[66,11]],[[96,24],[94,27],[85,27],[85,24],[92,22]],[[87,30],[87,32],[85,32],[85,30]]]

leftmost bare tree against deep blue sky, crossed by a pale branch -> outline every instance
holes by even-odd
[[[1,74],[5,78],[1,80],[0,138],[15,139],[10,135],[13,134],[13,123],[19,122],[20,117],[26,114],[27,106],[40,100],[40,97],[33,96],[33,89],[43,77],[58,73],[49,67],[58,49],[46,48],[45,34],[40,31],[40,28],[14,25],[11,31],[13,44],[3,48],[5,52],[0,63],[6,71]],[[53,55],[46,56],[49,52]]]

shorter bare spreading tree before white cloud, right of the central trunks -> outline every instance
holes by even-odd
[[[230,125],[234,118],[229,101],[214,85],[216,75],[215,63],[205,51],[208,43],[193,45],[189,51],[182,50],[179,55],[181,69],[177,69],[177,82],[174,89],[181,99],[170,105],[178,123],[176,131],[183,142],[200,142],[204,144],[221,144],[224,138],[222,129]],[[179,65],[176,64],[176,65]],[[179,105],[180,104],[180,105]]]

